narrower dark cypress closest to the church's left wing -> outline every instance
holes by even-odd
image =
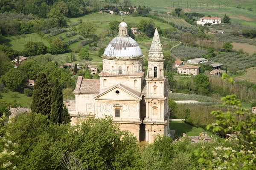
[[[52,106],[50,114],[50,121],[53,124],[61,123],[63,106],[64,104],[61,83],[58,79],[56,79],[52,89]]]

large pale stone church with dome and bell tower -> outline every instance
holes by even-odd
[[[157,29],[148,54],[148,70],[143,70],[143,58],[140,46],[128,36],[128,26],[122,21],[119,34],[102,55],[99,79],[78,77],[76,100],[68,107],[71,124],[108,115],[120,130],[130,131],[139,141],[152,143],[157,135],[168,135],[169,84]]]

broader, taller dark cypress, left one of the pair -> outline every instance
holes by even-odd
[[[41,113],[49,117],[51,102],[51,86],[47,75],[44,72],[39,72],[35,80],[31,110],[32,112]]]

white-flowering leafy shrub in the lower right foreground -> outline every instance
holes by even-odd
[[[234,84],[227,74],[228,82]],[[254,170],[256,165],[256,115],[248,112],[237,100],[236,95],[222,98],[223,104],[233,106],[234,112],[212,111],[216,121],[207,125],[212,132],[231,133],[232,137],[221,143],[212,144],[211,152],[195,150],[198,162],[205,170]],[[223,140],[223,139],[222,139]]]

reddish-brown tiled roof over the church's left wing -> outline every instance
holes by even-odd
[[[99,79],[83,79],[79,76],[76,82],[75,94],[79,93],[98,93],[99,92]]]

